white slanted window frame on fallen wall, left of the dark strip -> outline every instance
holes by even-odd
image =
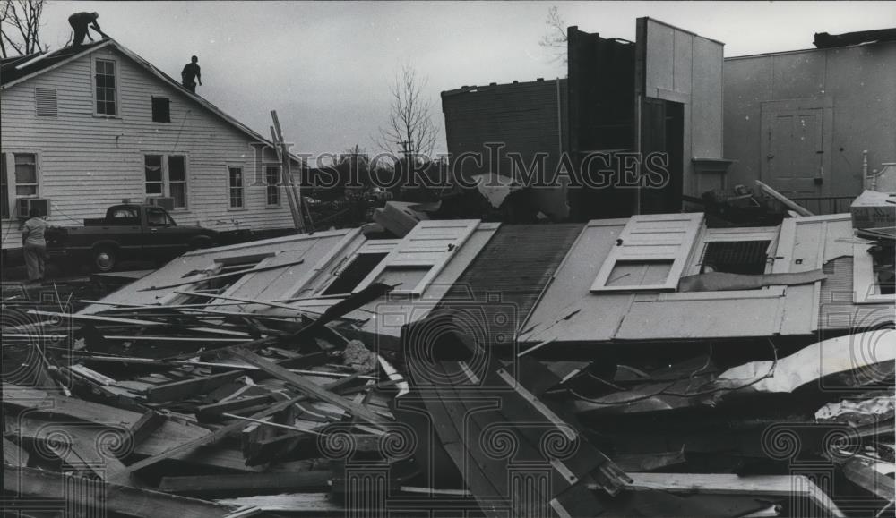
[[[368,276],[355,288],[359,292],[373,283],[388,267],[429,267],[414,286],[402,286],[392,293],[421,295],[452,256],[463,246],[479,225],[478,219],[449,221],[424,220],[414,226]]]

